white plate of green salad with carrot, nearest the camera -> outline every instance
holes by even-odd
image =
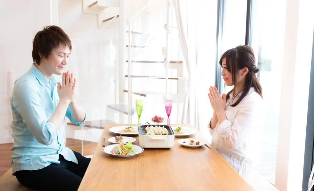
[[[144,151],[143,147],[132,143],[120,143],[105,146],[102,149],[105,153],[115,157],[132,157]]]

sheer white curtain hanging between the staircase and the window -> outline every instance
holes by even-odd
[[[217,2],[173,0],[173,5],[188,73],[181,123],[202,132],[211,116],[207,92],[214,85]]]

